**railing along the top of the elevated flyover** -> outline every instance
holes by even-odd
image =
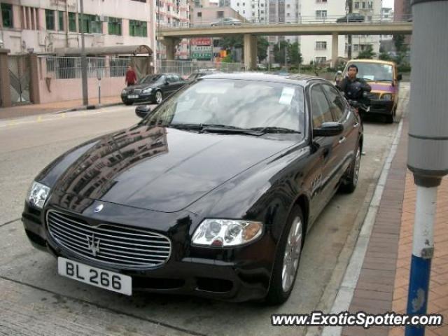
[[[353,14],[353,13],[352,13]],[[351,24],[356,25],[360,23],[391,23],[391,22],[412,22],[412,15],[402,15],[400,18],[386,17],[385,15],[369,15],[368,13],[356,15],[329,15],[329,16],[300,16],[296,20],[291,22],[265,22],[265,21],[229,21],[224,22],[220,20],[200,20],[196,22],[156,22],[156,27],[160,30],[165,29],[186,29],[186,28],[197,28],[197,27],[241,27],[246,25],[297,25],[297,24]]]

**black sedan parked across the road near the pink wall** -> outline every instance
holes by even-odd
[[[121,92],[121,100],[126,105],[141,102],[160,104],[169,94],[179,90],[186,83],[186,80],[177,73],[148,75],[141,78],[137,85],[125,87]]]

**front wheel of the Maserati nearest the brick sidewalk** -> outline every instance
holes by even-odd
[[[279,240],[271,283],[265,298],[268,304],[282,304],[288,300],[294,288],[295,279],[297,278],[303,241],[304,218],[302,209],[298,205],[295,205],[288,216]]]

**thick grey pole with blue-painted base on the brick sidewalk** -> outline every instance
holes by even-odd
[[[448,174],[448,0],[412,1],[411,95],[407,167],[414,174],[416,210],[407,314],[426,314],[437,188]],[[423,336],[425,327],[407,325],[406,336]]]

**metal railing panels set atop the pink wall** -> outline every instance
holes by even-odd
[[[81,57],[39,56],[43,78],[81,78]],[[87,78],[124,77],[129,57],[87,57]]]

